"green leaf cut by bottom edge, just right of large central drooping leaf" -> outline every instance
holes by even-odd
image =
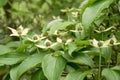
[[[84,80],[84,78],[92,73],[93,70],[88,70],[88,71],[74,71],[71,72],[67,75],[66,80]]]

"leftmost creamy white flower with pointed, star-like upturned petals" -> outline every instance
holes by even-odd
[[[22,25],[20,25],[17,29],[13,29],[11,27],[8,27],[8,29],[11,30],[12,34],[10,34],[10,36],[23,36],[23,35],[27,35],[29,28],[23,28]]]

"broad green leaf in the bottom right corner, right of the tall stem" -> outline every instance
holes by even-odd
[[[104,76],[107,80],[120,80],[120,73],[112,69],[104,69],[102,71],[102,76]]]

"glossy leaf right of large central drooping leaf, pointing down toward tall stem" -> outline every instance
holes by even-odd
[[[69,56],[68,54],[63,55],[69,62],[82,64],[82,65],[88,65],[90,67],[94,66],[93,60],[84,53],[74,53],[73,57]]]

